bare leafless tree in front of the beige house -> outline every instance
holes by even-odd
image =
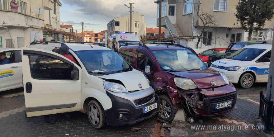
[[[199,5],[196,7],[200,8]],[[204,13],[201,8],[199,10],[196,7],[195,7],[195,9],[197,12],[197,17],[198,17],[198,19],[201,20],[201,25],[202,25],[202,30],[201,30],[201,33],[199,34],[198,42],[196,44],[196,48],[198,49],[198,45],[201,41],[201,38],[203,37],[205,28],[206,27],[215,27],[217,25],[216,25],[216,18],[213,15],[211,15],[209,13]],[[201,12],[201,13],[199,13],[199,12]],[[196,22],[196,25],[199,26],[198,22]]]

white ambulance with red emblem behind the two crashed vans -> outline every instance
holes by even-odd
[[[133,32],[119,32],[119,34],[111,35],[108,40],[108,48],[118,52],[121,46],[124,46],[126,42],[140,42],[138,35],[132,34]]]

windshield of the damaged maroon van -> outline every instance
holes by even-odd
[[[190,50],[156,50],[152,51],[162,70],[166,71],[191,71],[203,70],[207,67]]]

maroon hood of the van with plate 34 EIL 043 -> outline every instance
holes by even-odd
[[[198,88],[217,87],[226,84],[220,73],[212,69],[168,73],[178,77],[191,79],[196,83]],[[213,86],[211,81],[215,81],[216,85]]]

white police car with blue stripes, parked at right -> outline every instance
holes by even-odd
[[[267,82],[271,47],[271,44],[248,45],[226,59],[213,62],[210,68],[224,73],[231,83],[243,88]]]

